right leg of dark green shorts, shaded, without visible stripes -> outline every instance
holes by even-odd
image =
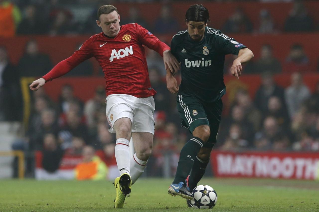
[[[221,112],[223,109],[223,102],[220,100],[212,103],[207,103],[204,105],[205,111],[207,113],[207,118],[210,125],[211,135],[208,138],[208,141],[204,144],[204,146],[211,147],[216,144],[216,137],[219,130]],[[213,144],[213,145],[209,145]]]

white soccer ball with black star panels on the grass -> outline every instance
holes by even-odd
[[[193,208],[213,208],[216,205],[217,193],[208,185],[197,186],[194,188],[192,194],[194,198],[187,200],[187,204],[193,206]]]

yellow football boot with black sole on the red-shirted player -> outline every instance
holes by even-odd
[[[114,208],[123,208],[125,197],[129,197],[131,193],[131,177],[129,174],[124,173],[120,177],[115,178],[113,184],[116,191]]]

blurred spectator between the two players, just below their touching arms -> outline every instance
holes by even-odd
[[[168,91],[166,83],[163,82],[163,78],[156,68],[149,69],[148,75],[152,88],[157,91],[154,96],[156,110],[169,112],[172,109],[171,102],[174,101],[175,96]]]

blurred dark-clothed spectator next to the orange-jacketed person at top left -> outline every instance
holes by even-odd
[[[35,5],[28,5],[24,9],[25,17],[18,26],[17,34],[31,35],[47,33],[47,25],[42,22],[42,19],[37,14]]]

